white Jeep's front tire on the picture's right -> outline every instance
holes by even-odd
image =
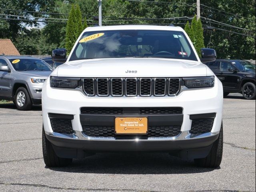
[[[212,144],[212,149],[206,158],[194,159],[199,167],[217,168],[220,166],[223,152],[223,126],[221,124],[218,139]]]

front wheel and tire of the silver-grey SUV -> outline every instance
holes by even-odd
[[[32,102],[26,88],[19,87],[16,90],[14,104],[18,110],[30,110],[32,108]]]

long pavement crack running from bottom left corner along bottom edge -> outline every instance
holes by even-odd
[[[32,186],[32,187],[42,187],[50,189],[59,190],[80,190],[80,191],[120,191],[120,192],[158,192],[158,191],[146,191],[146,190],[132,190],[132,189],[106,189],[106,188],[70,188],[70,187],[54,187],[43,184],[26,184],[26,183],[6,183],[0,182],[0,185],[14,185],[14,186]]]

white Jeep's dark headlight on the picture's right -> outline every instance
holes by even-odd
[[[187,88],[204,88],[214,86],[214,76],[182,78]]]

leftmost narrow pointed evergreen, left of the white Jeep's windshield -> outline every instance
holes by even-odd
[[[66,38],[65,38],[65,48],[67,49],[68,54],[70,53],[72,47],[74,46],[74,43],[77,39],[77,27],[76,27],[76,12],[74,5],[72,5],[69,16],[68,16],[68,22],[66,27]]]

